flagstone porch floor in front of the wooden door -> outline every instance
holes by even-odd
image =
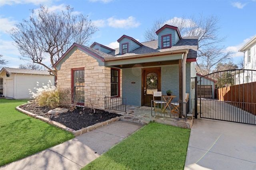
[[[123,121],[130,121],[134,123],[140,123],[143,125],[147,125],[151,121],[162,123],[166,125],[172,125],[176,127],[182,127],[186,129],[191,129],[192,123],[193,123],[193,117],[185,117],[178,118],[178,117],[170,117],[167,114],[154,114],[154,110],[151,109],[151,107],[146,106],[132,106],[127,105],[126,111],[116,111],[116,110],[110,110],[106,109],[107,111],[113,111],[115,113],[118,113],[122,116],[120,116],[120,120]],[[152,114],[153,111],[153,114]]]

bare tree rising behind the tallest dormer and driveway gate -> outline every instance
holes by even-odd
[[[174,17],[169,20],[154,21],[153,26],[145,31],[145,39],[147,41],[158,39],[155,32],[164,24],[178,27],[183,37],[197,36],[199,45],[196,70],[202,75],[212,72],[217,63],[230,60],[232,52],[225,51],[225,47],[221,45],[226,37],[219,37],[218,35],[220,26],[218,26],[219,18],[217,16],[203,17],[201,14],[198,18],[194,16],[189,19],[184,18]]]

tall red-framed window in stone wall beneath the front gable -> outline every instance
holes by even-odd
[[[73,100],[78,103],[84,103],[84,68],[72,70],[72,94]]]

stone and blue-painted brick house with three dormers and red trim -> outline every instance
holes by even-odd
[[[123,35],[119,48],[74,43],[54,64],[59,88],[71,88],[80,103],[104,109],[105,97],[126,98],[127,105],[151,106],[152,92],[172,90],[173,101],[191,91],[196,76],[198,37],[181,37],[178,27],[164,25],[158,40],[138,42]],[[81,95],[82,94],[82,95]],[[183,97],[185,100],[185,97]]]

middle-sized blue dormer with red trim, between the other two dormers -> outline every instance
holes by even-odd
[[[129,53],[130,51],[143,46],[137,40],[135,40],[134,38],[129,37],[127,35],[123,35],[122,37],[120,37],[117,40],[117,42],[119,43],[119,53],[121,55],[123,55],[125,53]]]

